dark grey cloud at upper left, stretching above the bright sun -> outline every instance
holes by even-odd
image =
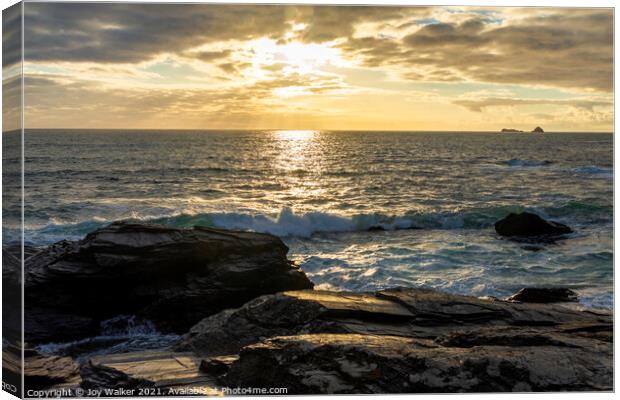
[[[322,42],[422,8],[206,4],[27,3],[26,58],[32,61],[135,63],[205,43],[283,40],[293,23],[301,39]],[[207,55],[208,56],[208,55]]]

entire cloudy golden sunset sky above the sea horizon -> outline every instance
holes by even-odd
[[[613,130],[611,9],[26,3],[24,21],[27,128]]]

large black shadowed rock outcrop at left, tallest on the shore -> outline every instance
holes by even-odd
[[[268,234],[113,223],[26,260],[26,340],[93,336],[120,314],[182,333],[258,296],[311,288],[287,251]]]

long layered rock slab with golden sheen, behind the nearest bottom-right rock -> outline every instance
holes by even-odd
[[[607,316],[552,304],[457,296],[425,289],[377,293],[292,291],[259,297],[196,324],[176,345],[200,356],[236,354],[248,344],[301,333],[358,333],[437,338],[475,327],[548,329],[591,326]]]

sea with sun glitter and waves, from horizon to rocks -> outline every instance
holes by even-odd
[[[250,229],[282,237],[319,287],[554,285],[613,304],[611,134],[30,130],[25,142],[32,245],[120,219]],[[520,210],[575,233],[536,252],[498,238],[493,222]]]

